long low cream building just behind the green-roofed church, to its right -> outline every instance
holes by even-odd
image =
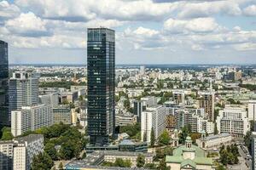
[[[232,139],[230,133],[220,133],[206,137],[206,133],[204,132],[202,133],[201,139],[196,139],[196,144],[203,149],[214,150],[220,148],[223,144],[231,144]]]

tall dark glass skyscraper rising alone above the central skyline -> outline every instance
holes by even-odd
[[[88,133],[90,145],[104,145],[114,134],[115,36],[107,28],[87,33]]]

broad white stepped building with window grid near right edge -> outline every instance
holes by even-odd
[[[236,137],[246,135],[250,129],[247,111],[240,107],[226,107],[218,111],[216,122],[218,133],[230,133]]]

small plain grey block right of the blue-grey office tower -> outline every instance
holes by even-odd
[[[59,95],[56,93],[39,95],[39,101],[42,104],[50,105],[52,108],[54,108],[59,105]]]

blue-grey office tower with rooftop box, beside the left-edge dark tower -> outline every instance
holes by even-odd
[[[38,101],[38,77],[29,72],[14,72],[9,79],[9,112],[36,105]]]

